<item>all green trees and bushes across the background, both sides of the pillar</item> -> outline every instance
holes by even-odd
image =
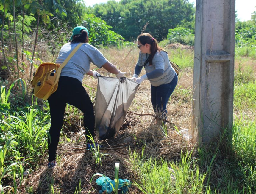
[[[255,16],[236,23],[236,44],[243,55],[255,56],[249,53],[256,42]],[[158,41],[193,45],[195,7],[188,0],[110,0],[94,7],[82,0],[1,0],[0,77],[16,72],[19,78],[29,61],[31,78],[34,62],[40,61],[37,52],[47,47],[47,56],[54,56],[77,25],[88,28],[90,44],[121,48],[136,41],[147,22],[145,32]]]

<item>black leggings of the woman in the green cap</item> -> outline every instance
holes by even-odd
[[[51,162],[56,159],[56,150],[60,139],[66,104],[73,105],[84,113],[85,134],[91,134],[93,138],[95,117],[93,103],[82,86],[82,83],[76,78],[60,76],[58,89],[51,94],[48,102],[51,114],[50,137],[48,137],[48,160]]]

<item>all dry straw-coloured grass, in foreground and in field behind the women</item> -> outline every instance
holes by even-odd
[[[135,64],[138,59],[138,49],[133,48],[127,59],[124,61],[129,48],[101,49],[104,56],[121,71],[127,72],[127,77],[133,74]],[[95,66],[92,65],[91,69]],[[104,69],[97,70],[101,75],[109,75]],[[144,71],[144,70],[143,70]],[[144,72],[142,72],[144,73]],[[82,127],[82,114],[74,115],[67,113],[64,123],[64,132],[71,142],[66,142],[65,138],[59,144],[57,153],[60,155],[58,167],[54,170],[40,166],[26,181],[24,188],[30,185],[36,193],[47,193],[51,190],[51,184],[55,191],[60,193],[74,193],[81,181],[82,193],[98,193],[95,183],[96,178],[90,183],[90,179],[95,173],[102,173],[113,179],[114,165],[120,163],[119,177],[136,181],[136,171],[132,171],[132,166],[128,162],[129,149],[141,152],[141,147],[145,145],[144,154],[152,158],[164,158],[167,161],[178,160],[181,151],[191,150],[193,145],[187,142],[182,136],[177,134],[174,125],[178,130],[189,129],[190,112],[192,98],[192,74],[191,69],[185,69],[179,76],[177,88],[185,89],[188,92],[178,93],[174,91],[167,107],[169,123],[166,125],[164,133],[161,124],[151,115],[138,116],[133,114],[154,114],[150,100],[150,84],[144,81],[135,94],[130,110],[121,126],[120,131],[112,140],[102,140],[104,145],[102,153],[111,155],[102,158],[102,165],[96,165],[92,152],[85,150],[85,139],[77,142],[77,134],[84,130]],[[97,80],[90,76],[85,76],[83,84],[90,86],[86,88],[92,100],[96,95]],[[188,97],[189,96],[189,97]],[[74,143],[76,142],[76,143]],[[143,142],[143,143],[142,143]],[[24,189],[24,193],[25,189]],[[129,193],[140,193],[136,187],[131,187]]]

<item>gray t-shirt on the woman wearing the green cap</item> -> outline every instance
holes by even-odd
[[[62,64],[78,44],[71,44],[70,42],[64,44],[55,63]],[[61,70],[60,76],[76,78],[82,82],[84,75],[90,70],[91,62],[101,68],[107,62],[107,59],[98,49],[89,43],[84,43]]]

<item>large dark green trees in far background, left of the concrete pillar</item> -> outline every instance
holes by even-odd
[[[91,12],[113,27],[127,41],[133,41],[141,33],[151,33],[158,41],[166,38],[168,29],[177,25],[192,27],[195,9],[193,4],[182,0],[121,0],[97,4]],[[192,27],[193,28],[193,27]]]

